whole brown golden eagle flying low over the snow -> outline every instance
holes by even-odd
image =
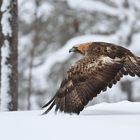
[[[140,77],[140,57],[118,45],[104,42],[79,44],[70,49],[84,55],[67,71],[55,96],[43,107],[79,114],[93,97],[123,77]]]

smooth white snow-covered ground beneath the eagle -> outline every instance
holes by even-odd
[[[0,113],[1,140],[140,140],[140,103],[87,107],[79,116],[42,111]]]

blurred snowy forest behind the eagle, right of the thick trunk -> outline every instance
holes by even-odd
[[[74,44],[106,41],[140,56],[140,0],[19,0],[19,109],[40,109],[79,55]],[[90,104],[140,101],[140,79],[125,77]]]

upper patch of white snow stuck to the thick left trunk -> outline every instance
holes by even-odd
[[[11,19],[11,14],[9,13],[10,2],[11,0],[4,0],[1,7],[1,11],[3,12],[1,19],[2,32],[5,36],[12,35],[12,30],[9,22],[9,20]]]

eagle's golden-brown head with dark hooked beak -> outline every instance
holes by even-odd
[[[77,44],[69,50],[69,53],[70,52],[77,52],[77,53],[80,53],[82,55],[85,55],[87,49],[91,46],[91,44],[92,44],[92,42]]]

